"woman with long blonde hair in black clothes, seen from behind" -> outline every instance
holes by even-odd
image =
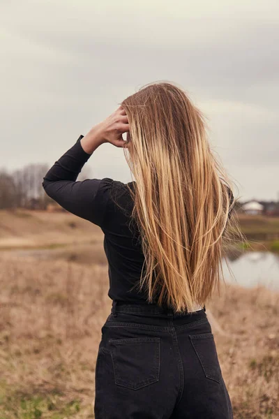
[[[123,147],[135,181],[76,182],[105,142]],[[80,135],[43,187],[104,233],[112,311],[96,360],[96,419],[233,418],[205,304],[239,229],[229,179],[187,94],[146,84]]]

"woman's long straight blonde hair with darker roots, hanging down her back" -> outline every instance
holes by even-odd
[[[151,303],[193,311],[216,286],[220,293],[224,246],[232,235],[242,238],[232,182],[209,147],[204,115],[183,89],[145,84],[121,105],[131,142],[123,150],[136,181],[132,219],[145,258],[135,286],[145,287]]]

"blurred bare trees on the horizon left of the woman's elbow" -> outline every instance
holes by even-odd
[[[31,163],[11,172],[0,168],[0,210],[45,210],[49,203],[54,203],[42,186],[43,177],[48,169],[47,163]],[[87,179],[89,172],[89,167],[83,168],[78,180]]]

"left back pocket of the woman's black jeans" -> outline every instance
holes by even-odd
[[[110,339],[116,385],[138,390],[159,380],[160,337]]]

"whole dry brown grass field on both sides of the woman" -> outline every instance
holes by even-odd
[[[1,214],[0,419],[94,417],[111,309],[102,244],[98,227],[70,214]],[[279,418],[278,307],[279,293],[230,284],[206,306],[234,419]]]

